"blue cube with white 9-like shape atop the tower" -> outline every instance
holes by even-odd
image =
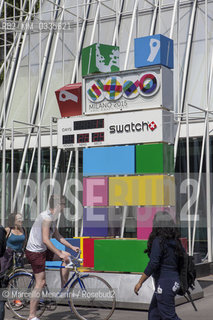
[[[161,34],[135,39],[135,67],[152,65],[173,68],[173,40]]]

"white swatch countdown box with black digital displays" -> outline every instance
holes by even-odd
[[[58,148],[151,142],[174,142],[173,113],[156,109],[58,120]]]

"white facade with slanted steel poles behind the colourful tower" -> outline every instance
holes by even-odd
[[[17,4],[18,3],[18,4]],[[11,16],[12,11],[12,16]],[[60,163],[61,150],[53,162],[57,146],[56,122],[60,117],[54,91],[66,83],[81,81],[81,51],[96,42],[120,46],[120,69],[134,68],[134,38],[162,33],[174,40],[174,112],[177,120],[175,157],[181,138],[186,139],[188,179],[188,240],[193,254],[196,215],[205,151],[206,219],[208,261],[212,262],[212,189],[210,175],[210,136],[213,96],[213,1],[212,0],[20,0],[0,2],[0,52],[3,79],[0,94],[1,122],[1,222],[6,214],[6,156],[11,152],[10,210],[17,205],[23,170],[29,149],[32,156],[26,185],[37,155],[37,186],[41,185],[41,150],[50,148],[52,187]],[[63,27],[65,26],[65,30]],[[197,79],[196,79],[197,77]],[[198,79],[198,77],[201,77]],[[200,92],[199,86],[200,84]],[[17,110],[19,110],[17,112]],[[197,112],[195,112],[197,110]],[[196,128],[195,131],[193,131]],[[201,137],[203,144],[199,169],[194,221],[190,220],[189,138]],[[22,150],[18,177],[14,181],[14,150]],[[71,151],[63,186],[75,154],[75,176],[79,174],[79,150]],[[27,189],[27,188],[26,188]],[[76,187],[76,194],[80,186]],[[24,192],[26,197],[27,190]],[[21,201],[24,209],[24,198]],[[37,188],[37,214],[41,210],[41,191]],[[78,201],[75,207],[75,235]],[[121,236],[124,235],[124,208]],[[193,232],[191,234],[191,229]]]

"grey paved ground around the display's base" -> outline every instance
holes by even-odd
[[[196,300],[198,312],[195,312],[190,303],[177,307],[177,314],[182,320],[212,320],[213,319],[213,276],[201,278],[199,280],[204,290],[204,298]],[[68,306],[58,306],[53,312],[45,312],[41,320],[68,320],[71,317]],[[147,320],[147,311],[134,311],[117,309],[111,317],[111,320]],[[15,320],[9,310],[6,310],[5,320]]]

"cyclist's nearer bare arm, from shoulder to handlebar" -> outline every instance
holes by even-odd
[[[64,260],[66,263],[69,263],[69,254],[67,252],[57,249],[53,243],[50,241],[50,226],[51,221],[44,220],[42,223],[42,239],[43,243],[47,246],[49,250],[57,254],[60,259]]]

